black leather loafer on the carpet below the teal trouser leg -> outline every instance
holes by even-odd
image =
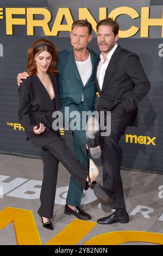
[[[85,211],[83,211],[80,207],[76,206],[75,210],[72,210],[70,207],[68,207],[68,205],[65,205],[65,210],[64,213],[66,215],[74,215],[77,218],[79,218],[80,220],[90,220],[91,216],[89,214],[87,214]]]

